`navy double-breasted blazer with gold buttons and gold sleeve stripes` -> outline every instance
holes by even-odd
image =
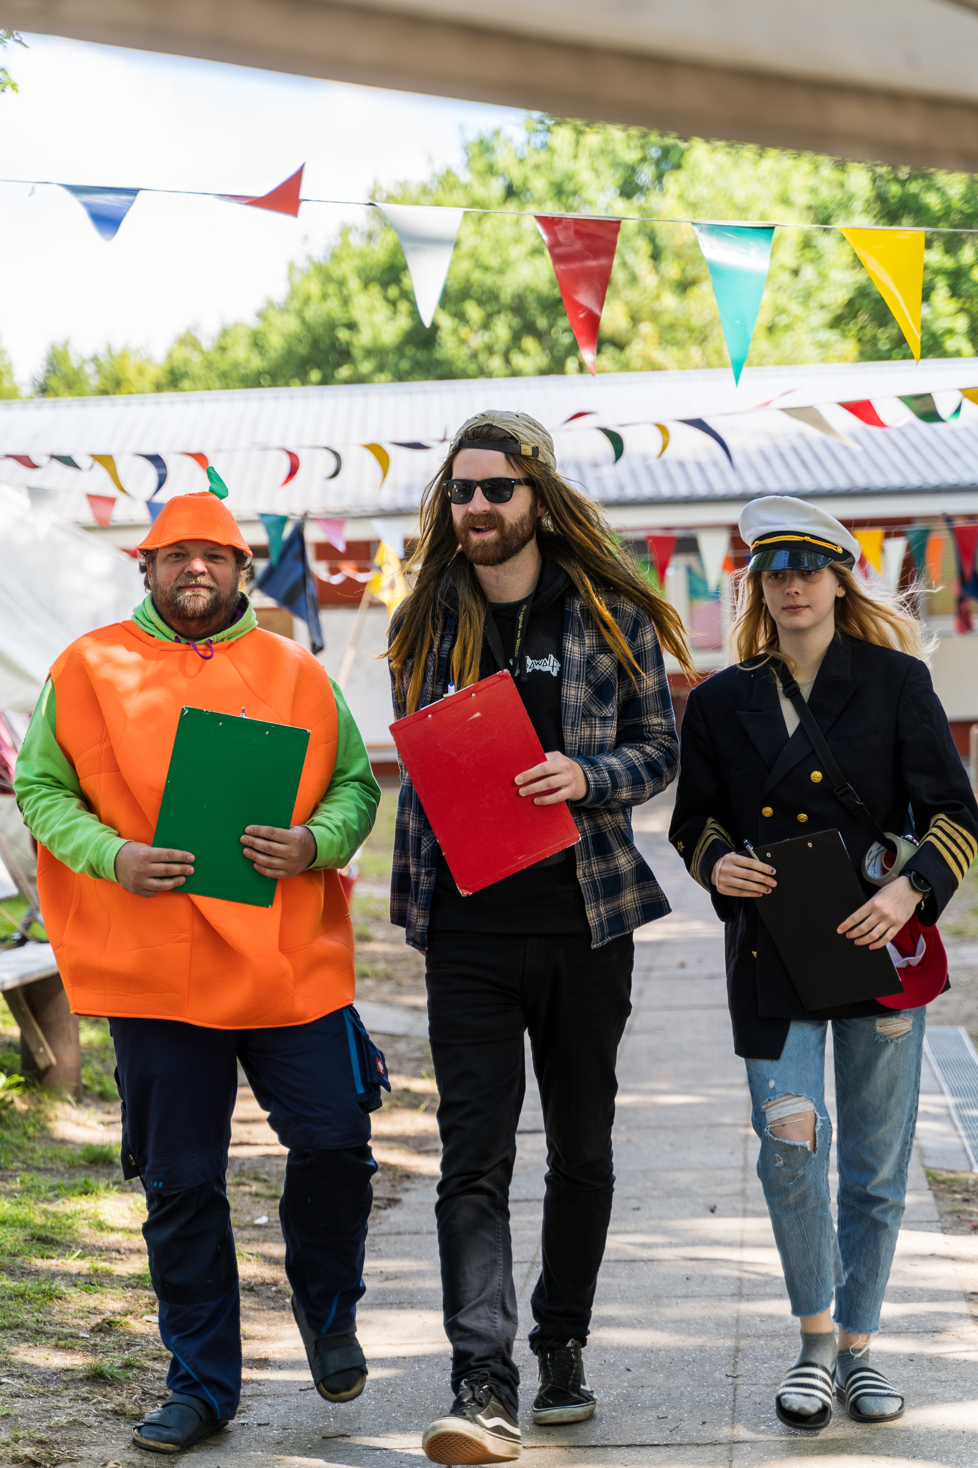
[[[808,708],[883,829],[919,840],[905,871],[918,871],[933,887],[919,912],[931,926],[978,854],[978,806],[927,666],[836,634]],[[805,1010],[754,900],[721,897],[711,882],[717,860],[742,851],[745,840],[760,847],[831,828],[859,872],[872,837],[836,799],[820,763],[802,725],[787,737],[765,659],[724,668],[689,694],[669,840],[726,923],[735,1048],[749,1058],[777,1060],[793,1019],[889,1013],[872,1000]],[[862,887],[872,895],[869,884]]]

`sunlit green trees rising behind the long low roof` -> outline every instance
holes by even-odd
[[[378,189],[374,197],[383,203]],[[600,371],[727,363],[710,276],[682,219],[779,219],[751,364],[908,357],[899,327],[833,223],[978,228],[965,175],[842,163],[771,148],[679,141],[639,129],[529,117],[513,141],[487,132],[466,169],[403,184],[391,201],[465,204],[441,304],[418,319],[400,245],[383,213],[345,228],[321,260],[290,270],[254,323],[202,342],[188,332],[160,364],[123,349],[87,363],[53,348],[41,392],[147,392],[304,383],[578,373],[584,364],[532,213],[623,220]],[[978,349],[974,236],[928,235],[924,352]],[[60,352],[62,357],[54,358]]]

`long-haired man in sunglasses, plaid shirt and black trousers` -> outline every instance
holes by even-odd
[[[425,953],[443,1160],[437,1223],[452,1342],[433,1462],[519,1458],[509,1183],[529,1031],[547,1132],[543,1268],[529,1343],[534,1421],[591,1417],[591,1304],[611,1213],[617,1045],[641,923],[669,912],[632,843],[630,807],[676,775],[661,647],[689,669],[683,628],[598,506],[557,474],[521,413],[462,426],[425,490],[412,590],[391,622],[399,716],[509,671],[547,752],[516,775],[566,800],[579,843],[463,897],[402,775],[391,920]],[[660,646],[661,644],[661,646]]]

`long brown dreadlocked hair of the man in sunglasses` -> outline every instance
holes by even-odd
[[[510,435],[493,423],[479,423],[466,430],[466,439],[487,445],[506,437]],[[438,593],[446,573],[449,573],[447,584],[455,589],[459,605],[452,681],[457,688],[463,688],[469,683],[477,683],[479,677],[485,596],[455,537],[452,504],[444,492],[444,483],[452,477],[452,462],[453,455],[449,455],[421,498],[421,534],[405,567],[411,593],[399,609],[397,630],[387,649],[399,678],[406,664],[413,664],[406,690],[408,713],[413,713],[421,702],[425,662],[434,647],[441,619],[443,600]],[[598,505],[540,459],[521,459],[515,465],[515,473],[521,479],[531,480],[537,502],[547,506],[537,527],[541,553],[567,573],[632,683],[638,686],[641,668],[607,608],[609,592],[628,597],[647,612],[663,649],[676,658],[688,677],[695,678],[679,614],[658,596],[630,553],[619,545]]]

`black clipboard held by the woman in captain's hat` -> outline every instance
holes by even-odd
[[[886,948],[856,948],[836,932],[867,901],[839,831],[758,841],[757,856],[771,863],[777,887],[754,901],[806,1010],[903,992]]]

